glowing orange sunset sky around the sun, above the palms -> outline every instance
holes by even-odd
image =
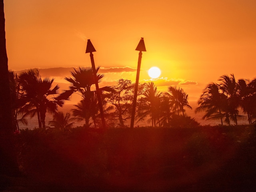
[[[140,82],[157,66],[158,90],[177,85],[197,100],[224,74],[256,77],[255,10],[255,0],[5,0],[8,66],[55,68],[42,73],[64,83],[70,68],[59,67],[91,66],[90,39],[99,86],[135,82],[143,37]]]

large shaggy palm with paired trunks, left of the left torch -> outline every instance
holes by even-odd
[[[54,79],[48,77],[42,79],[38,70],[29,70],[23,72],[19,76],[21,91],[26,105],[23,110],[26,111],[25,116],[33,117],[37,114],[39,128],[45,128],[46,112],[54,113],[58,106],[63,105],[63,101],[54,97],[57,94],[59,86],[53,89],[52,83]]]

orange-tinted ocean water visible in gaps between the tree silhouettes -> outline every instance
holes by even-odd
[[[214,126],[214,125],[218,125],[218,124],[221,124],[220,120],[203,120],[202,119],[202,116],[204,115],[204,112],[200,112],[200,113],[195,113],[195,109],[196,107],[198,107],[197,105],[197,102],[196,101],[190,101],[189,102],[189,105],[192,107],[192,110],[191,109],[188,109],[186,108],[186,114],[188,116],[191,116],[192,118],[195,118],[195,120],[200,123],[200,125],[210,125],[210,126]],[[59,111],[62,111],[64,112],[64,114],[66,112],[70,112],[70,110],[72,108],[75,108],[73,106],[73,104],[64,104],[64,106],[62,108],[59,109]],[[238,124],[248,124],[248,120],[247,120],[247,117],[245,114],[242,113],[242,111],[240,111],[239,113],[240,115],[244,115],[245,118],[244,119],[239,119],[238,120]],[[34,116],[33,118],[27,118],[28,119],[28,125],[23,125],[23,124],[20,124],[20,129],[34,129],[34,128],[38,128],[38,120],[37,120],[37,117]],[[48,122],[52,120],[52,114],[49,114],[49,113],[46,113],[46,126],[48,126]],[[231,122],[231,124],[234,124],[233,122]],[[74,123],[74,127],[76,126],[83,126],[84,125],[84,121],[81,121],[81,122],[75,122]],[[129,121],[126,121],[126,125],[127,126],[130,126],[130,122]],[[148,123],[148,120],[144,120],[144,121],[141,121],[141,122],[138,122],[136,123],[136,120],[135,120],[135,123],[134,123],[134,127],[136,126],[151,126],[151,123]]]

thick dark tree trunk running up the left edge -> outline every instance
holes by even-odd
[[[0,0],[0,174],[18,174],[13,136],[4,0]]]

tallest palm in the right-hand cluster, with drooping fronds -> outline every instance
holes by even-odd
[[[229,122],[228,118],[231,118],[237,125],[237,118],[239,116],[239,96],[238,96],[238,86],[236,84],[236,79],[234,74],[231,74],[231,77],[228,75],[223,75],[220,77],[220,90],[227,97],[227,108],[226,108],[226,121]]]

